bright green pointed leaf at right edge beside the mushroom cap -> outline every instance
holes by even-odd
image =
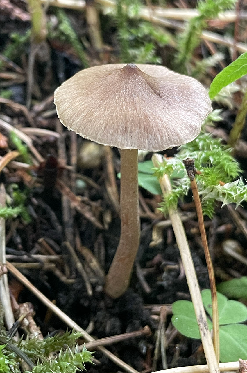
[[[247,52],[241,54],[235,61],[230,63],[218,75],[215,76],[209,88],[209,97],[211,100],[217,93],[228,84],[235,82],[247,74]]]

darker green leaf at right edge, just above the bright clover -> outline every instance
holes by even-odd
[[[228,298],[247,299],[247,276],[222,282],[217,286],[217,289]]]

